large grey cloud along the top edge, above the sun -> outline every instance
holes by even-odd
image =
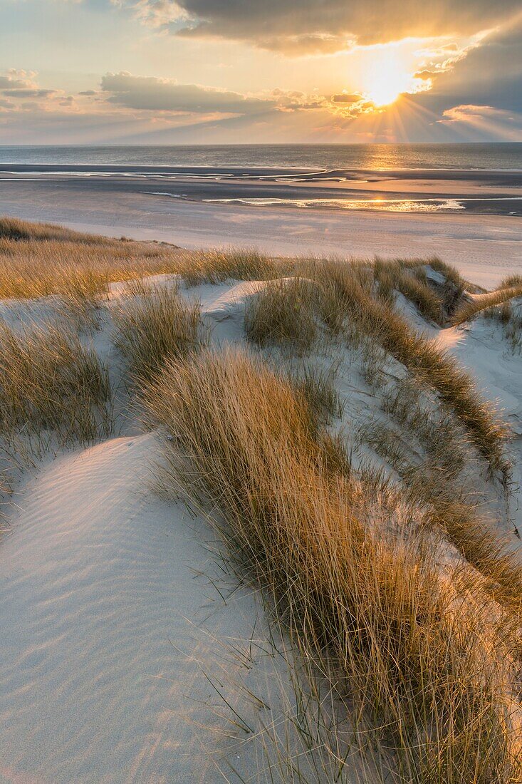
[[[520,0],[113,0],[146,24],[186,37],[228,38],[292,53],[333,52],[405,37],[474,34]]]

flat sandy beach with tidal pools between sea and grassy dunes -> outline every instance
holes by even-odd
[[[0,212],[191,249],[438,256],[484,287],[520,269],[517,172],[141,169],[4,164]]]

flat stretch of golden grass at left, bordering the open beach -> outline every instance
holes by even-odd
[[[147,275],[179,274],[187,285],[198,285],[277,278],[293,266],[255,249],[190,252],[0,218],[0,299],[59,294],[81,303],[103,295],[113,281]]]

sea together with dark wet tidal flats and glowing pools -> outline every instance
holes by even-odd
[[[520,217],[522,143],[0,147],[0,208],[22,187],[38,198],[47,187],[51,198],[66,188],[225,208]]]

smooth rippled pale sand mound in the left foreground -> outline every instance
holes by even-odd
[[[145,434],[62,456],[17,499],[0,546],[2,782],[230,775],[202,673],[223,682],[259,608],[216,566],[204,521],[147,492],[154,449]]]

